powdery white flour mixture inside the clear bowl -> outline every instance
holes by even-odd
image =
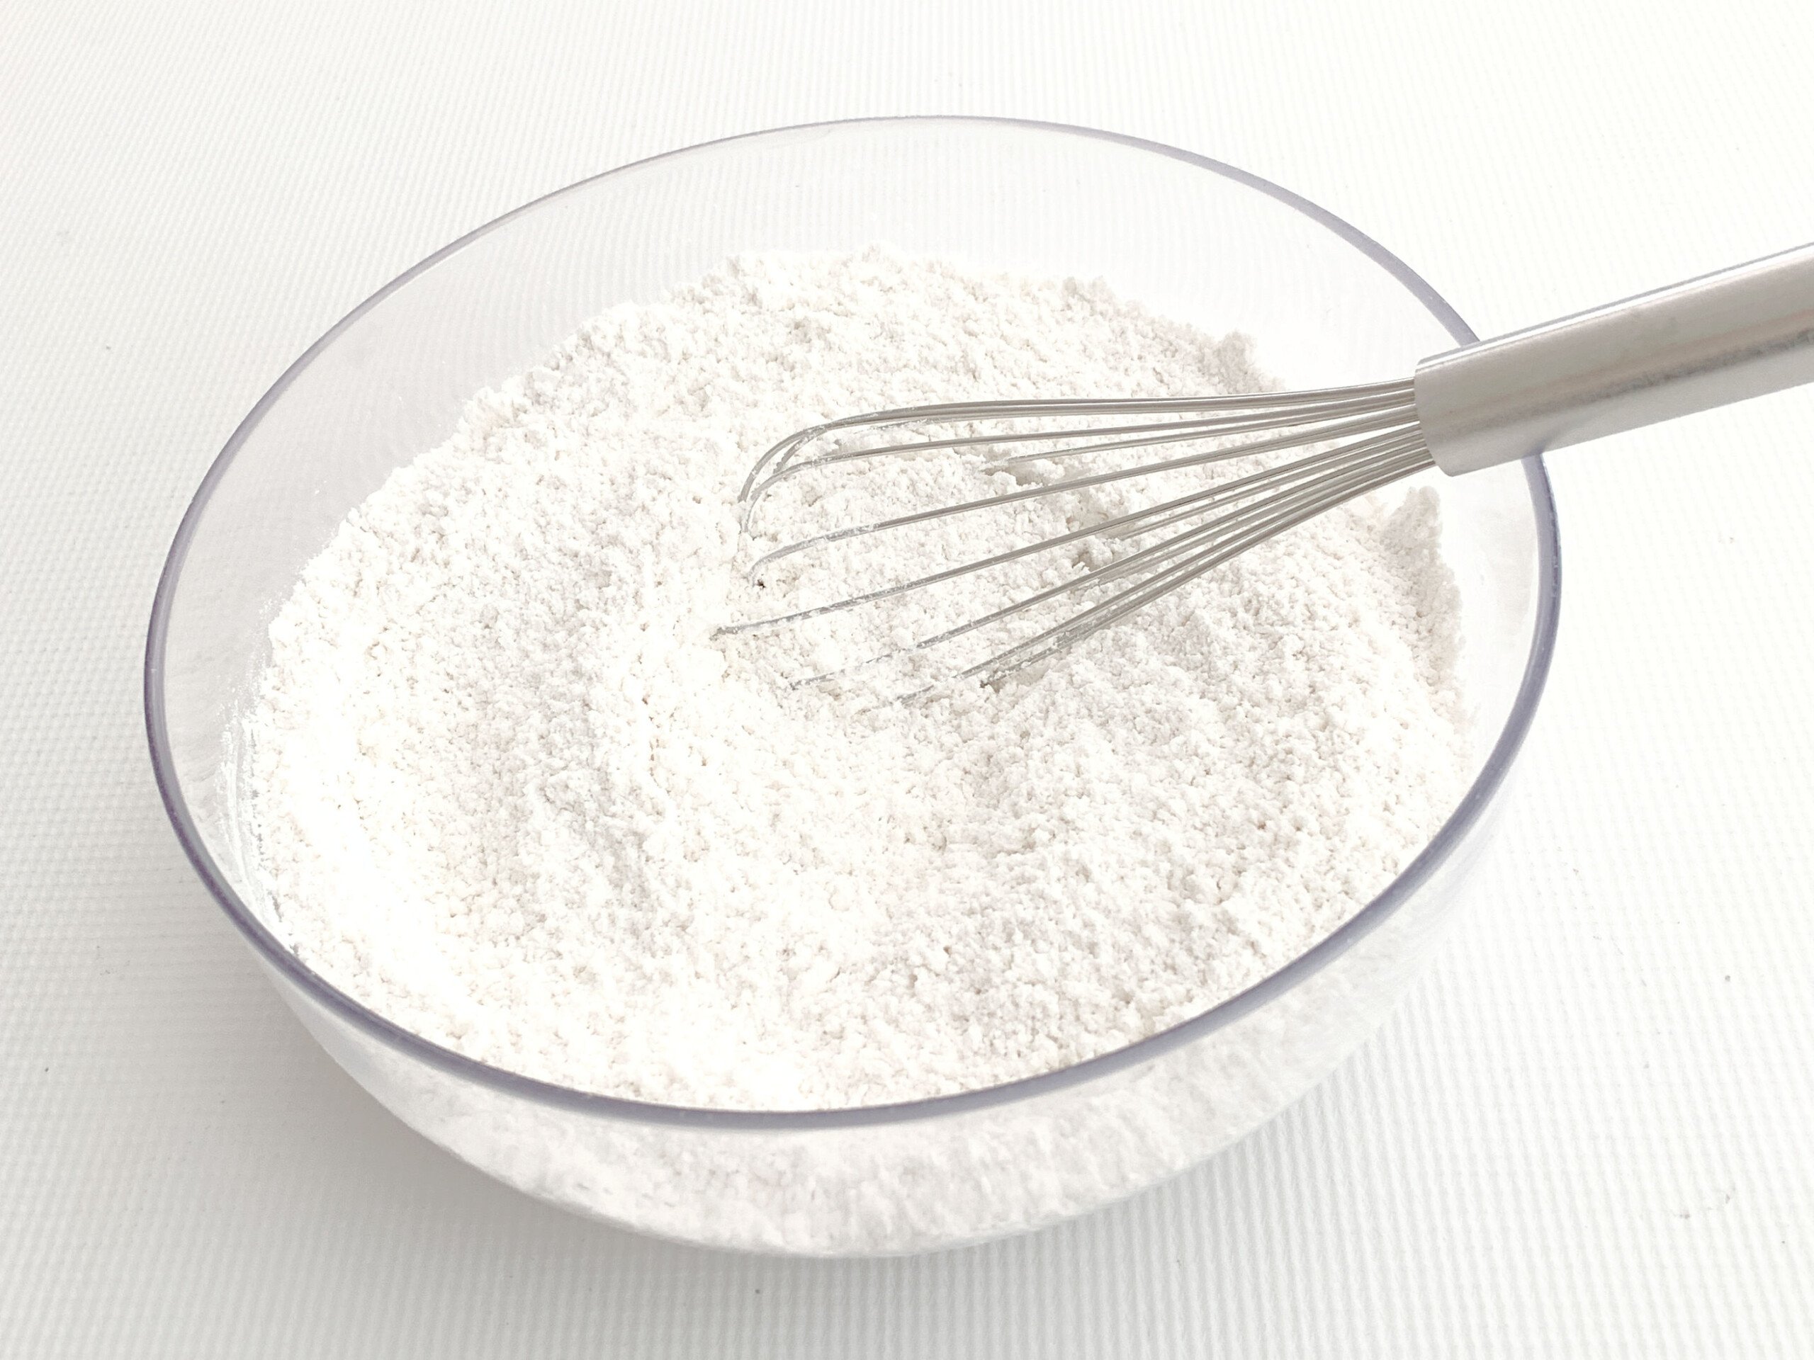
[[[1264,384],[1244,339],[1101,285],[880,248],[740,257],[613,308],[473,399],[272,622],[250,738],[276,927],[435,1043],[722,1108],[989,1086],[1250,986],[1464,789],[1431,493],[1324,515],[1041,673],[923,704],[780,684],[849,660],[836,631],[715,629],[814,588],[802,568],[753,604],[738,571],[735,497],[796,426]],[[903,468],[791,488],[762,531],[992,475]],[[940,607],[980,613],[963,589]]]

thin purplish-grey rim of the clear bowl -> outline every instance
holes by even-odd
[[[212,894],[214,901],[219,903],[227,918],[239,928],[247,937],[258,956],[276,968],[281,976],[292,981],[305,996],[325,1006],[334,1015],[348,1021],[356,1028],[366,1032],[372,1039],[377,1039],[390,1048],[401,1050],[403,1054],[428,1063],[441,1072],[446,1072],[466,1081],[475,1081],[483,1086],[499,1090],[504,1095],[535,1101],[539,1104],[553,1104],[573,1112],[582,1112],[604,1119],[619,1119],[640,1124],[669,1124],[669,1126],[691,1126],[691,1128],[718,1128],[718,1130],[766,1130],[766,1132],[805,1132],[816,1128],[865,1128],[880,1124],[900,1124],[920,1119],[938,1119],[947,1115],[967,1113],[974,1110],[985,1110],[1001,1104],[1012,1104],[1016,1101],[1027,1101],[1039,1095],[1048,1095],[1052,1092],[1081,1086],[1114,1072],[1148,1063],[1163,1054],[1172,1052],[1186,1043],[1201,1039],[1226,1025],[1239,1021],[1243,1015],[1264,1006],[1273,997],[1297,986],[1310,976],[1321,972],[1337,957],[1346,954],[1362,937],[1384,925],[1404,901],[1429,879],[1429,876],[1442,865],[1449,854],[1462,843],[1468,832],[1480,821],[1493,796],[1500,791],[1511,771],[1513,760],[1518,749],[1524,745],[1524,738],[1531,729],[1531,720],[1536,713],[1536,702],[1542,696],[1544,682],[1549,675],[1551,656],[1555,653],[1556,640],[1556,620],[1560,609],[1560,588],[1562,588],[1562,559],[1558,544],[1558,526],[1556,526],[1556,506],[1555,497],[1549,488],[1549,477],[1544,470],[1542,459],[1531,455],[1524,459],[1524,475],[1531,493],[1531,504],[1536,513],[1536,537],[1538,537],[1538,595],[1536,595],[1536,617],[1533,620],[1531,631],[1531,651],[1526,658],[1524,676],[1518,684],[1518,693],[1513,698],[1511,713],[1506,718],[1506,725],[1487,753],[1486,763],[1480,774],[1469,785],[1468,792],[1457,803],[1455,811],[1449,814],[1448,821],[1437,831],[1431,841],[1411,860],[1404,870],[1386,885],[1384,890],[1366,907],[1362,907],[1355,916],[1342,923],[1330,936],[1321,939],[1312,948],[1299,954],[1295,959],[1268,974],[1261,981],[1248,986],[1226,1001],[1210,1006],[1190,1019],[1179,1021],[1177,1025],[1161,1030],[1157,1034],[1137,1039],[1123,1048],[1116,1048],[1108,1054],[1099,1054],[1096,1057],[1074,1063],[1054,1072],[1041,1072],[1032,1077],[1019,1077],[1016,1081],[1001,1083],[996,1086],[981,1086],[969,1092],[956,1092],[951,1095],[934,1095],[918,1101],[896,1101],[889,1104],[869,1104],[869,1106],[844,1106],[836,1110],[715,1110],[702,1106],[677,1106],[677,1104],[657,1104],[651,1101],[631,1101],[619,1095],[604,1095],[599,1092],[577,1090],[573,1086],[561,1086],[551,1081],[542,1081],[539,1077],[528,1077],[519,1072],[510,1072],[508,1068],[493,1066],[490,1063],[481,1063],[479,1059],[466,1057],[464,1054],[454,1052],[452,1048],[443,1048],[394,1021],[385,1019],[374,1010],[368,1010],[361,1003],[354,1001],[350,996],[336,988],[325,977],[308,968],[296,954],[292,954],[285,945],[250,912],[250,908],[239,899],[232,885],[227,881],[219,865],[209,854],[207,845],[196,829],[194,820],[189,814],[189,807],[181,796],[181,785],[176,778],[174,756],[171,753],[169,727],[163,711],[163,673],[165,673],[165,644],[169,638],[171,624],[171,606],[176,593],[176,584],[181,578],[183,560],[189,555],[189,544],[201,522],[201,515],[219,484],[227,468],[232,464],[239,448],[250,437],[252,430],[265,417],[265,413],[283,397],[285,390],[296,381],[296,377],[308,368],[314,359],[327,350],[354,321],[377,306],[385,297],[394,294],[397,288],[410,283],[415,276],[434,268],[437,263],[466,248],[483,236],[502,228],[506,223],[524,216],[553,199],[575,194],[588,185],[600,180],[610,180],[617,174],[626,174],[646,165],[655,165],[658,161],[673,160],[678,156],[689,156],[715,147],[727,147],[738,141],[758,141],[766,138],[782,138],[800,132],[813,131],[831,131],[847,129],[860,125],[922,125],[922,123],[940,123],[940,125],[974,125],[974,127],[1014,127],[1036,132],[1048,132],[1056,136],[1085,138],[1094,141],[1108,141],[1121,147],[1130,147],[1134,151],[1143,151],[1154,156],[1163,156],[1166,160],[1181,161],[1185,165],[1208,170],[1234,183],[1253,189],[1266,198],[1272,198],[1284,207],[1295,209],[1302,216],[1310,218],[1317,225],[1328,228],[1331,234],[1341,238],[1344,243],[1359,250],[1362,256],[1371,259],[1375,265],[1384,268],[1393,279],[1397,279],[1406,292],[1409,292],[1422,306],[1437,319],[1437,323],[1455,337],[1457,345],[1471,345],[1478,339],[1473,328],[1455,312],[1453,306],[1444,301],[1435,288],[1429,287],[1415,270],[1411,270],[1402,259],[1386,250],[1379,241],[1366,236],[1359,228],[1337,218],[1333,212],[1312,203],[1301,194],[1292,192],[1281,185],[1263,180],[1257,174],[1250,174],[1226,161],[1217,161],[1208,156],[1199,156],[1192,151],[1183,151],[1179,147],[1170,147],[1161,141],[1150,141],[1146,138],[1128,136],[1125,132],[1108,132],[1103,129],[1078,127],[1072,123],[1039,121],[1025,118],[985,118],[985,116],[961,116],[961,114],[920,114],[920,116],[902,116],[902,118],[838,118],[827,121],[813,123],[791,123],[785,127],[771,127],[758,132],[740,132],[735,136],[715,138],[711,141],[700,141],[689,147],[680,147],[675,151],[666,151],[657,156],[646,156],[626,165],[604,170],[600,174],[579,180],[564,189],[557,189],[550,194],[542,194],[510,212],[493,218],[492,221],[466,232],[459,239],[448,243],[441,250],[414,265],[412,268],[399,274],[395,279],[386,283],[383,288],[374,292],[363,303],[359,303],[352,312],[341,317],[327,334],[321,335],[314,345],[310,345],[296,363],[292,363],[283,375],[259,397],[258,404],[247,413],[239,426],[232,432],[227,444],[216,455],[214,462],[209,466],[207,475],[201,479],[194,499],[189,502],[183,513],[181,524],[176,529],[176,537],[171,544],[171,551],[165,557],[163,571],[158,577],[158,591],[151,607],[151,627],[145,638],[145,676],[143,676],[143,698],[145,698],[145,736],[151,743],[151,763],[152,772],[158,782],[158,792],[163,798],[165,812],[171,818],[171,825],[176,831],[176,838],[189,856],[190,865],[194,865],[196,874],[201,878],[207,890]]]

